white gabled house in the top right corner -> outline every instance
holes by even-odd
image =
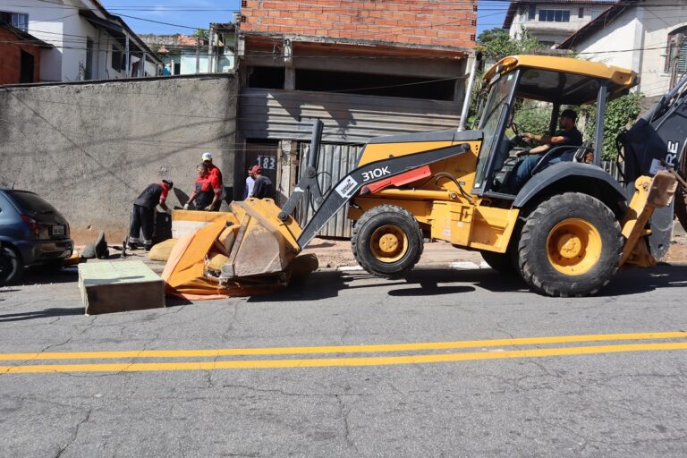
[[[559,46],[638,72],[646,97],[663,95],[687,72],[687,0],[622,1]]]

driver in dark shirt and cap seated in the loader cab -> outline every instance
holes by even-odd
[[[545,154],[549,149],[556,147],[571,147],[571,148],[560,148],[553,152],[546,159],[546,163],[539,166],[539,169],[546,168],[549,165],[556,164],[557,162],[569,161],[573,159],[573,155],[577,150],[577,147],[582,144],[582,134],[581,131],[577,130],[575,127],[575,121],[577,120],[577,113],[571,109],[564,110],[561,113],[560,119],[558,120],[558,125],[561,130],[556,131],[554,135],[536,135],[530,132],[525,132],[522,134],[522,138],[525,140],[535,140],[541,143],[539,147],[526,148],[518,152],[518,156],[526,156],[524,159],[519,161],[513,168],[513,173],[508,181],[508,188],[510,191],[517,192],[520,191],[522,186],[527,182],[531,175],[534,167],[539,164],[539,160],[542,155]]]

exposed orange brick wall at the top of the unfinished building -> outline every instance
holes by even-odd
[[[462,48],[474,47],[477,20],[471,0],[243,0],[241,14],[246,33]]]

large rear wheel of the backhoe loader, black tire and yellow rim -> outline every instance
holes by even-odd
[[[522,226],[522,278],[549,296],[587,296],[618,270],[623,237],[615,215],[598,199],[567,192],[542,202]]]

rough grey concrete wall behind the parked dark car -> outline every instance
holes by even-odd
[[[122,242],[140,191],[189,194],[204,151],[233,186],[236,93],[232,73],[0,88],[0,185],[53,203],[77,243]]]

